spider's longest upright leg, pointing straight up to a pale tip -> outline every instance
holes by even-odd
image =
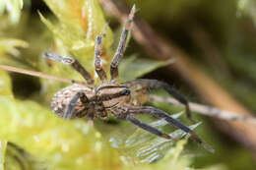
[[[111,80],[116,80],[118,78],[118,64],[126,48],[126,40],[127,40],[129,30],[131,29],[131,26],[132,26],[135,11],[136,11],[136,8],[134,5],[128,16],[128,20],[125,22],[117,50],[115,52],[114,58],[110,66]]]

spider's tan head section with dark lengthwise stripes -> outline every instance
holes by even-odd
[[[131,91],[124,85],[100,85],[96,88],[96,95],[106,109],[122,105],[131,99]]]

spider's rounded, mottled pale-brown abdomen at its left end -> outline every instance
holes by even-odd
[[[90,99],[94,96],[94,90],[86,85],[70,85],[65,88],[60,89],[54,94],[51,100],[50,107],[59,117],[63,117],[68,104],[70,103],[72,97],[76,95],[79,91],[83,91],[87,97]],[[86,106],[78,100],[74,108],[74,112],[71,118],[84,117],[86,113]]]

